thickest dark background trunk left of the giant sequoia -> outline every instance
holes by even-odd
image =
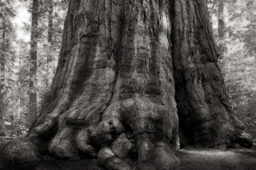
[[[30,51],[30,81],[29,81],[29,118],[32,123],[37,117],[36,71],[37,71],[37,38],[38,38],[38,0],[33,0],[32,29]]]

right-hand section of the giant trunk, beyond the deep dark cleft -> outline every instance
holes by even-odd
[[[229,144],[234,116],[204,1],[175,1],[173,65],[180,131],[197,146]],[[183,139],[182,139],[183,140]]]

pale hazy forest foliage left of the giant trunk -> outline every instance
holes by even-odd
[[[1,126],[8,124],[5,127],[8,136],[24,135],[40,114],[41,101],[50,88],[57,67],[67,5],[64,0],[40,0],[38,3],[38,25],[34,29],[37,37],[34,41],[37,42],[35,90],[39,112],[30,114],[32,1],[0,0],[1,115],[4,117]]]

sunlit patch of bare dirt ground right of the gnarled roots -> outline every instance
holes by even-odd
[[[246,149],[180,149],[177,170],[256,170],[256,147]]]

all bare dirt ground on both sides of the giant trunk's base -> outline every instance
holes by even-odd
[[[256,147],[225,150],[186,148],[175,151],[175,154],[181,161],[176,170],[256,170]],[[104,170],[96,159],[68,161],[43,158],[37,165],[14,168],[0,165],[0,170]]]

